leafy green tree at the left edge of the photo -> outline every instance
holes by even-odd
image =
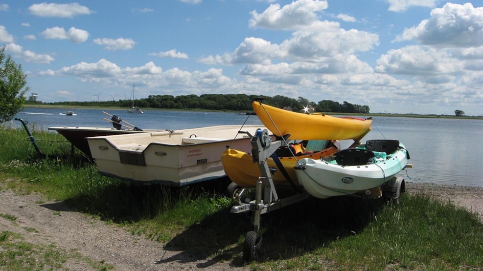
[[[10,55],[5,56],[5,45],[0,49],[0,123],[10,121],[23,108],[29,90],[27,75],[22,65],[15,63]]]

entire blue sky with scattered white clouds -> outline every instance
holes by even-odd
[[[39,100],[263,94],[483,115],[483,1],[0,0]]]

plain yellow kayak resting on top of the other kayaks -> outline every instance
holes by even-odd
[[[254,101],[252,106],[263,125],[277,136],[290,134],[289,139],[359,139],[372,125],[370,119],[338,118],[322,113],[303,114],[258,101]]]

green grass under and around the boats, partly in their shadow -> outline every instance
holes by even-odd
[[[230,199],[220,193],[228,180],[182,188],[130,184],[101,176],[81,153],[70,153],[69,144],[49,142],[62,141],[60,135],[36,131],[34,136],[44,139],[39,147],[46,158],[38,157],[23,130],[0,130],[0,187],[65,201],[132,234],[162,242],[166,250],[182,250],[193,260],[210,257],[211,262],[252,270],[479,270],[483,266],[483,224],[477,215],[424,194],[403,194],[397,204],[356,197],[309,199],[264,214],[259,257],[244,263],[244,234],[252,225],[245,214],[229,212]],[[9,214],[0,217],[16,220]],[[0,232],[0,251],[22,245],[11,236]],[[33,251],[38,257],[45,253]],[[14,258],[29,262],[25,255]],[[1,255],[0,269],[16,269],[2,257],[9,256]],[[60,258],[55,261],[62,263]]]

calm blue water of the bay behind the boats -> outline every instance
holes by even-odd
[[[76,109],[74,116],[65,110],[28,108],[16,117],[34,124],[35,129],[48,126],[110,126],[110,119],[99,109]],[[246,115],[221,112],[145,111],[130,114],[126,110],[104,110],[144,129],[183,129],[212,125],[242,125]],[[260,124],[250,116],[247,124]],[[21,127],[20,122],[12,125]],[[409,150],[408,175],[415,182],[483,187],[483,121],[374,117],[372,131],[364,138],[397,139]],[[344,145],[343,145],[344,146]],[[405,173],[404,173],[405,174]]]

